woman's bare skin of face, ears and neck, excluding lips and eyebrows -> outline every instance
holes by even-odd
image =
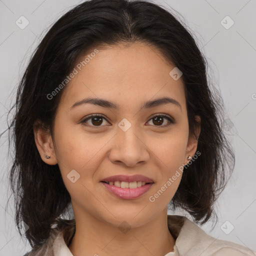
[[[167,228],[167,204],[182,175],[154,202],[149,196],[188,162],[197,147],[196,138],[188,134],[184,85],[169,75],[174,65],[153,46],[135,42],[98,49],[66,85],[53,133],[34,128],[35,143],[44,162],[58,164],[70,193],[76,232],[69,249],[74,256],[162,256],[173,251],[175,244]],[[114,102],[120,109],[87,103],[70,110],[76,101],[89,96]],[[177,100],[181,108],[165,103],[140,109],[145,101],[166,96]],[[152,117],[163,113],[175,123],[164,118],[157,125]],[[90,114],[105,119],[98,125],[92,119],[82,124]],[[118,127],[123,118],[131,123],[126,131]],[[198,125],[197,137],[199,131]],[[80,175],[74,183],[67,178],[72,169]],[[154,184],[136,199],[118,198],[100,183],[117,174],[142,174]],[[126,233],[118,229],[123,221],[130,227]]]

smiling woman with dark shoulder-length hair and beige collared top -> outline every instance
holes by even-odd
[[[10,125],[25,255],[256,255],[194,223],[214,216],[234,163],[206,63],[151,2],[85,1],[55,22]]]

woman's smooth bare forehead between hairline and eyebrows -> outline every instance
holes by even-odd
[[[75,64],[77,74],[66,86],[62,102],[71,106],[73,101],[92,96],[118,105],[134,105],[140,99],[144,102],[170,96],[185,104],[181,78],[174,80],[169,74],[175,66],[154,46],[140,42],[108,45],[90,54],[93,49],[80,56]]]

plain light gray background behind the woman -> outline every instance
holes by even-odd
[[[31,52],[50,24],[71,6],[80,2],[0,0],[0,132],[7,127],[6,112],[14,102],[17,82]],[[219,217],[217,224],[213,230],[211,222],[202,228],[218,239],[233,241],[256,250],[256,0],[155,2],[168,9],[171,6],[184,17],[208,60],[209,75],[219,86],[228,114],[226,118],[229,119],[229,126],[225,125],[224,130],[235,149],[235,168],[216,204]],[[24,29],[15,24],[21,15],[29,21]],[[234,21],[228,29],[221,24],[221,20],[227,15]],[[223,22],[226,23],[225,26],[231,24],[228,18]],[[23,255],[30,246],[19,238],[13,209],[8,208],[5,211],[10,194],[7,192],[9,190],[6,175],[11,163],[10,158],[7,158],[6,136],[7,134],[4,134],[0,138],[0,255],[14,256]],[[232,226],[234,228],[231,231]]]

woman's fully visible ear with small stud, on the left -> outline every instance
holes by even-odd
[[[33,125],[33,132],[35,144],[41,159],[47,164],[56,164],[57,159],[49,129],[43,127],[43,124],[40,120],[36,120]],[[50,156],[50,158],[46,158],[45,155]]]

